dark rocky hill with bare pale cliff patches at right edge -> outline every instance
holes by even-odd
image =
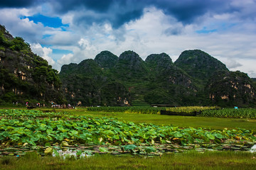
[[[219,106],[255,106],[256,89],[242,72],[218,72],[206,86],[210,101]]]

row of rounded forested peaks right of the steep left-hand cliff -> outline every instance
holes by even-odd
[[[82,62],[85,61],[89,60]],[[79,64],[67,64],[62,67],[60,79],[66,87],[65,90],[72,91],[69,95],[66,94],[68,101],[85,106],[88,106],[85,98],[88,100],[95,98],[90,102],[91,106],[142,106],[153,103],[177,106],[255,106],[256,104],[255,84],[247,74],[230,72],[225,64],[201,50],[184,51],[176,62],[172,62],[165,53],[149,55],[144,61],[133,51],[123,52],[119,57],[103,51],[90,62],[95,62],[90,66],[93,66],[97,72],[92,73],[92,68],[89,67],[82,69],[83,72],[67,70],[70,67],[80,70]],[[71,81],[63,77],[66,73],[78,77],[90,75],[90,80],[84,78],[80,81],[73,80],[79,87],[71,88]],[[89,83],[92,80],[93,83]],[[80,86],[79,82],[88,84]],[[101,92],[102,89],[106,89],[105,84],[119,84],[122,88],[115,88],[114,95],[103,100],[102,103],[101,98],[107,97],[102,96],[104,93]],[[76,95],[80,94],[81,89],[87,89],[87,94],[94,95],[78,99]]]

